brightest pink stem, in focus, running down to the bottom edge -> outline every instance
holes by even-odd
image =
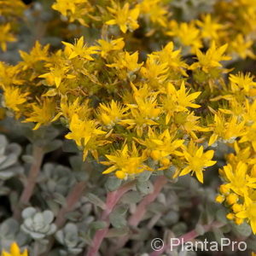
[[[126,192],[128,192],[134,185],[134,181],[131,183],[125,183],[125,185],[121,186],[119,189],[108,192],[107,200],[106,200],[106,209],[102,212],[102,221],[105,221],[107,223],[106,228],[102,230],[97,230],[96,234],[93,238],[92,244],[89,247],[89,250],[87,253],[84,253],[84,256],[95,256],[98,252],[99,248],[101,247],[102,241],[104,237],[108,233],[109,228],[109,214],[113,211],[113,207],[116,206],[116,204],[119,202],[120,198],[125,195]]]

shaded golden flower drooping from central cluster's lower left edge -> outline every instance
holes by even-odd
[[[48,125],[55,116],[55,100],[44,98],[43,104],[32,103],[32,113],[26,113],[28,116],[23,122],[38,123],[33,130],[38,130],[41,125]]]

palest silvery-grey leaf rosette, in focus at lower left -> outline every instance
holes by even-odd
[[[27,207],[22,212],[22,218],[24,221],[21,230],[34,240],[41,240],[55,233],[56,226],[53,224],[55,216],[49,210],[38,212],[33,207]]]

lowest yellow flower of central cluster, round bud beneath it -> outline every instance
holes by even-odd
[[[150,168],[143,164],[145,158],[139,156],[135,143],[132,143],[131,152],[128,145],[125,144],[121,150],[116,150],[113,154],[106,154],[106,157],[108,161],[102,161],[102,164],[110,167],[103,174],[115,172],[116,177],[123,179],[150,171]]]

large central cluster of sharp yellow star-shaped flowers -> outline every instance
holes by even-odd
[[[189,66],[172,42],[143,62],[138,52],[124,50],[123,38],[63,44],[49,53],[37,43],[30,54],[20,52],[23,61],[16,66],[2,63],[3,104],[16,118],[35,123],[34,130],[66,124],[66,137],[83,149],[84,160],[89,152],[96,160],[107,157],[105,173],[127,178],[176,166],[176,175],[195,172],[203,182],[202,171],[215,162],[213,151],[203,153],[197,143],[212,128],[196,115],[201,91],[187,80],[189,69],[201,68],[200,57]],[[206,55],[216,52],[218,63],[219,51],[224,49],[213,45]]]

